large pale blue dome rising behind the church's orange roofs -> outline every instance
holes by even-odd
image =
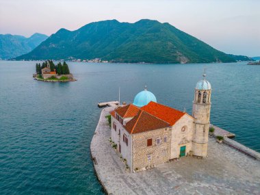
[[[143,90],[135,96],[135,99],[133,100],[133,105],[143,107],[151,101],[157,102],[155,95],[152,92]]]

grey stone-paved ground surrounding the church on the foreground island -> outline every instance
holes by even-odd
[[[209,138],[206,159],[182,157],[130,173],[109,143],[105,116],[112,109],[102,110],[90,144],[96,176],[107,194],[260,194],[260,161],[216,138]]]

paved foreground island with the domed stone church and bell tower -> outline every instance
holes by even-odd
[[[90,152],[106,194],[259,194],[260,153],[210,125],[211,83],[198,81],[192,115],[157,103],[99,103]]]

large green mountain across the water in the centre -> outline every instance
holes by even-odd
[[[60,29],[16,60],[72,58],[151,63],[235,62],[230,55],[169,23],[147,19],[136,23],[100,21],[75,31]]]

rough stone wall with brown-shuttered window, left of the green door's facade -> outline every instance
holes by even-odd
[[[153,144],[152,146],[147,146],[147,140],[150,138],[153,139]],[[156,143],[157,138],[161,139],[161,144]],[[164,142],[164,138],[167,139],[166,142]],[[132,171],[138,172],[140,170],[146,170],[168,161],[170,159],[170,139],[170,128],[133,134]],[[148,155],[151,155],[150,161],[148,160]]]

